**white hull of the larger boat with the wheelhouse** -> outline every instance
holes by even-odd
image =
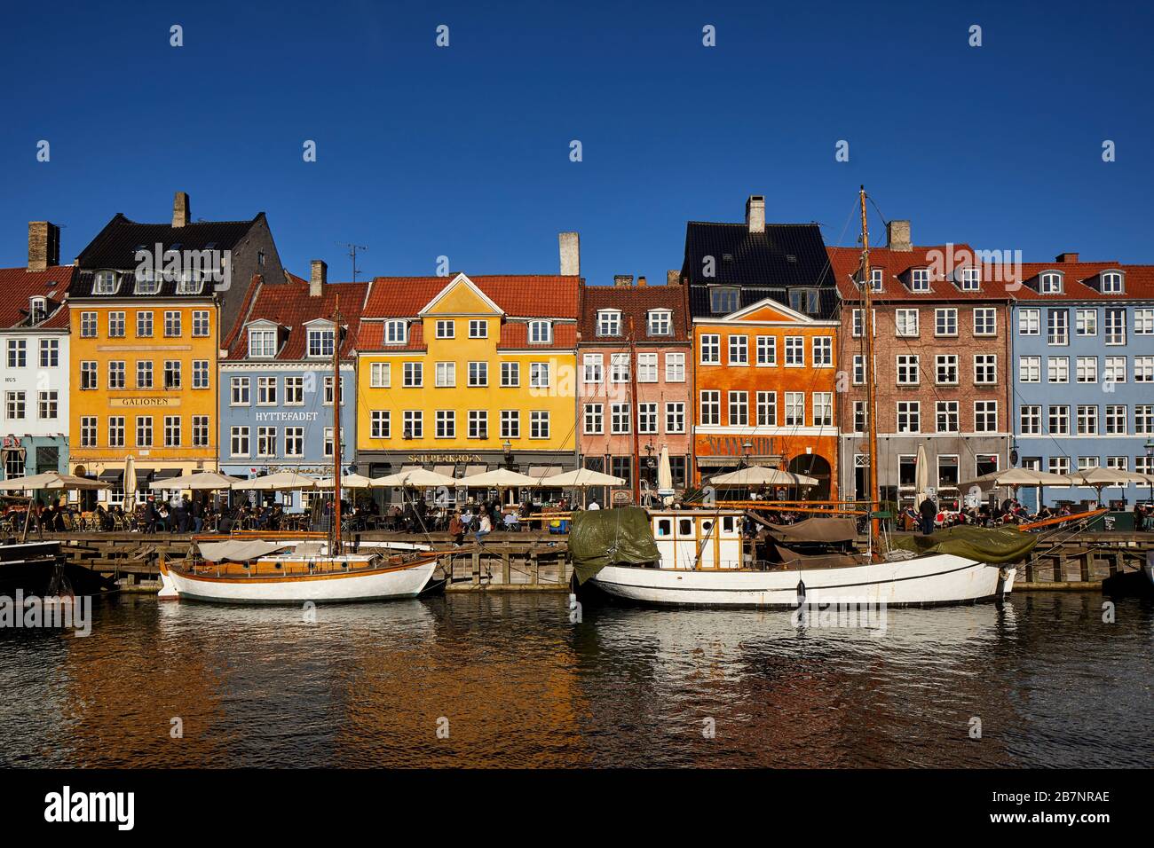
[[[1010,593],[1014,575],[1013,566],[932,554],[847,568],[784,571],[608,565],[592,581],[613,596],[657,605],[794,608],[803,592],[804,603],[899,607],[997,600]]]

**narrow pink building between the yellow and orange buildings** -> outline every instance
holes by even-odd
[[[583,290],[577,346],[580,464],[623,478],[623,488],[630,491],[635,472],[655,488],[662,449],[669,453],[674,489],[691,481],[694,366],[688,318],[688,290],[676,272],[664,286],[646,285],[644,277],[637,285],[632,277],[617,277],[613,286]],[[634,468],[635,435],[639,468]]]

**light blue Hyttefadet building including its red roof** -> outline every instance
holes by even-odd
[[[340,465],[355,468],[354,347],[368,283],[329,283],[314,261],[308,280],[261,280],[220,358],[220,471],[334,475],[334,345],[339,344]],[[339,335],[334,318],[339,312]],[[339,337],[339,342],[337,340]],[[300,511],[310,493],[280,495]]]

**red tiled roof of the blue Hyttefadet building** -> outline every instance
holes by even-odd
[[[238,328],[232,333],[228,345],[230,361],[245,359],[248,354],[248,333],[243,329],[254,321],[271,321],[280,327],[280,347],[275,359],[297,361],[306,358],[308,332],[305,324],[321,318],[331,318],[334,310],[340,307],[340,315],[349,333],[340,345],[340,355],[347,357],[357,346],[357,333],[360,328],[361,308],[368,283],[327,283],[323,293],[313,298],[308,293],[308,280],[294,275],[286,283],[261,283],[252,307],[238,321]]]

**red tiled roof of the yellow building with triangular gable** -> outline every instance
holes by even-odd
[[[415,317],[456,276],[377,277],[373,280],[364,317]],[[469,279],[510,317],[577,317],[580,277],[526,273],[481,275]]]

